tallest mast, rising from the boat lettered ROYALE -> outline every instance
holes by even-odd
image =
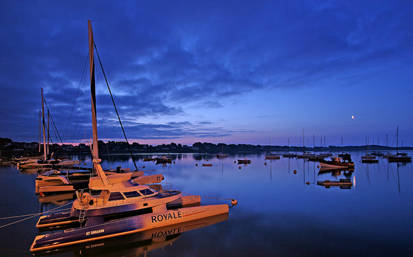
[[[90,95],[92,99],[92,136],[93,136],[93,153],[96,159],[99,158],[98,151],[98,125],[96,121],[96,89],[94,78],[94,52],[93,52],[93,32],[92,22],[87,21],[87,28],[89,30],[89,69],[90,69]]]

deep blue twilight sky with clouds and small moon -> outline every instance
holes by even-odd
[[[91,137],[90,19],[130,142],[297,145],[304,129],[310,146],[386,133],[396,146],[399,126],[413,146],[412,1],[1,1],[0,13],[0,137],[38,140],[41,87],[63,141]],[[96,73],[98,135],[124,140]]]

